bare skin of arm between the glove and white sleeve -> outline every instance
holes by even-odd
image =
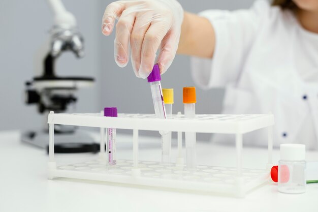
[[[215,34],[210,21],[204,17],[184,12],[177,53],[212,58]]]

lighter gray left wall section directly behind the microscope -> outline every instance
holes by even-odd
[[[98,82],[93,88],[79,90],[76,111],[97,111],[101,106],[100,1],[63,2],[77,18],[86,56],[78,60],[72,53],[62,55],[57,73],[95,77]],[[41,127],[43,118],[35,106],[24,105],[23,90],[24,82],[33,77],[34,53],[47,39],[52,23],[47,1],[0,1],[0,130]]]

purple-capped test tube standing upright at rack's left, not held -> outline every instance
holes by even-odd
[[[117,117],[116,107],[105,107],[104,116]],[[116,165],[116,129],[107,128],[108,164]]]

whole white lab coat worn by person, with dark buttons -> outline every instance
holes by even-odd
[[[318,148],[318,35],[305,31],[291,11],[266,1],[249,10],[200,15],[213,25],[216,44],[213,59],[192,58],[195,82],[226,88],[223,113],[272,112],[275,146]],[[213,139],[234,141],[220,134]],[[243,139],[243,144],[267,145],[267,131]]]

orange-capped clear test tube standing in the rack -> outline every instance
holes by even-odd
[[[196,87],[183,87],[184,117],[196,116]],[[197,168],[196,133],[185,132],[186,167],[189,170]]]

